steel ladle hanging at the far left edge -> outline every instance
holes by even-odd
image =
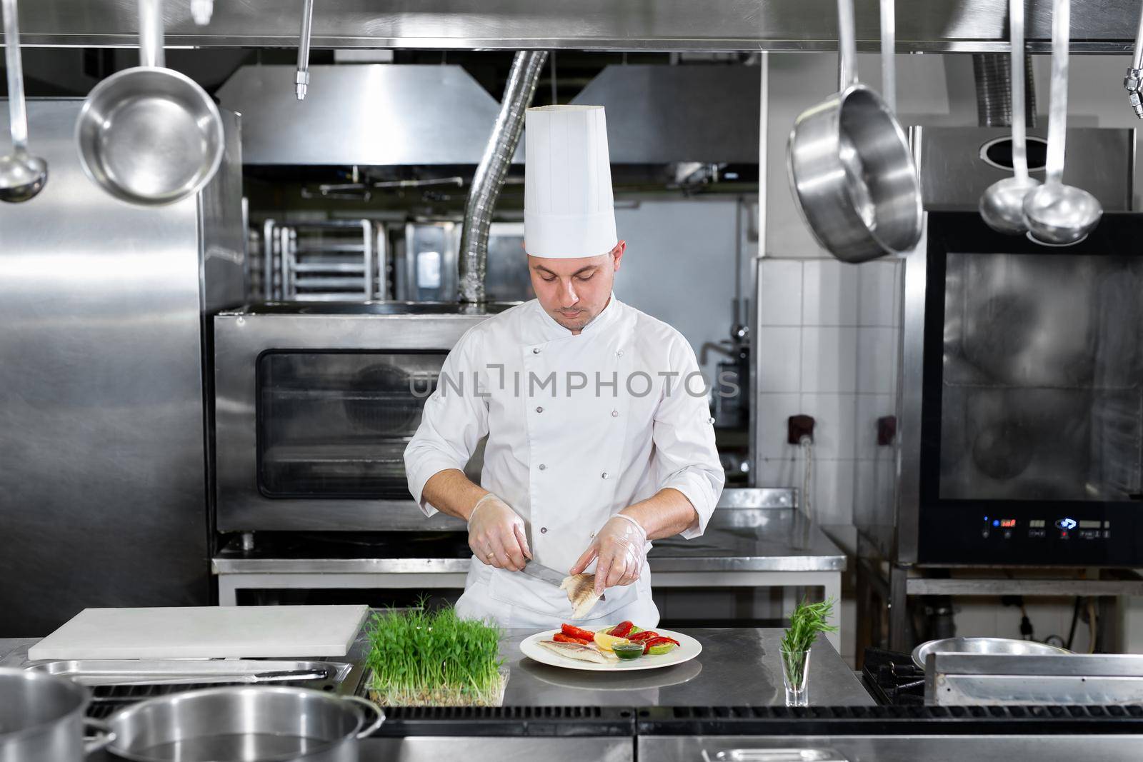
[[[2,0],[2,3],[11,153],[0,157],[0,201],[18,203],[35,198],[43,190],[43,184],[48,182],[48,162],[27,152],[27,110],[24,104],[24,71],[19,56],[16,0]]]

